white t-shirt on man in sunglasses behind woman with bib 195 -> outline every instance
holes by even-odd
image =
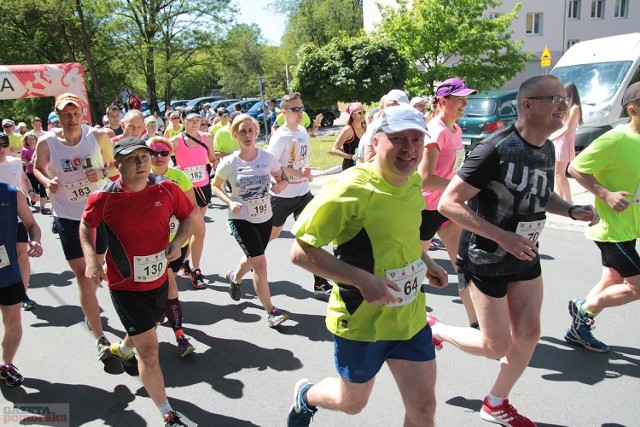
[[[291,130],[282,126],[271,136],[268,151],[272,153],[283,167],[300,170],[309,166],[309,134],[302,126]],[[280,194],[283,198],[304,196],[309,192],[309,179],[289,177],[289,185]]]

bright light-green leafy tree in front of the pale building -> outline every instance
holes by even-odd
[[[381,8],[379,32],[396,41],[402,53],[418,64],[405,85],[411,92],[431,91],[436,82],[454,75],[479,90],[498,88],[523,71],[531,57],[521,52],[521,41],[511,40],[511,23],[522,3],[492,19],[484,13],[501,5],[501,0],[398,3],[397,8]]]

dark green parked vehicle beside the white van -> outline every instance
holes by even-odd
[[[516,89],[480,92],[467,98],[464,116],[458,120],[462,143],[471,151],[480,141],[518,118]]]

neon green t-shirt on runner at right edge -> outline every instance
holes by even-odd
[[[628,125],[618,126],[593,141],[571,165],[581,173],[594,175],[609,191],[628,191],[640,197],[640,135]],[[615,212],[596,197],[600,222],[588,227],[588,239],[598,242],[626,242],[640,237],[640,202]]]

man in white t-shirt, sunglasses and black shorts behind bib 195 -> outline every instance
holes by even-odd
[[[287,218],[293,214],[298,218],[302,210],[313,199],[309,190],[309,182],[313,179],[309,168],[309,134],[300,125],[304,113],[304,105],[299,93],[290,93],[282,97],[282,115],[284,126],[280,126],[269,140],[268,151],[276,156],[284,167],[302,172],[304,177],[291,178],[289,185],[277,196],[271,191],[271,207],[273,209],[273,228],[269,240],[280,235]],[[316,117],[315,125],[319,125],[322,116]],[[315,295],[329,295],[331,284],[324,277],[313,275],[313,293]]]

